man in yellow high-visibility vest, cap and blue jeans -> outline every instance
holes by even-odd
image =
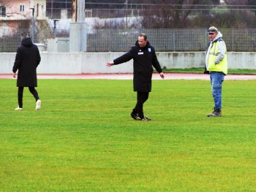
[[[210,74],[211,93],[214,98],[214,112],[208,117],[222,116],[222,82],[227,74],[227,48],[222,34],[214,26],[208,29],[210,42],[206,50],[205,73]]]

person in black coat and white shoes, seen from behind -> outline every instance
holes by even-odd
[[[40,110],[41,101],[34,87],[37,87],[37,66],[41,61],[37,45],[31,42],[26,33],[21,35],[21,45],[17,49],[15,62],[12,68],[13,77],[18,70],[18,107],[15,110],[23,110],[23,88],[29,87],[29,91],[36,99],[36,110]]]

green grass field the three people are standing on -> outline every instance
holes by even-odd
[[[132,120],[131,80],[39,80],[42,108],[0,80],[0,191],[255,191],[256,81],[154,80]]]

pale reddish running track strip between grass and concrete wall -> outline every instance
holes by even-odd
[[[37,74],[38,79],[132,80],[132,74]],[[12,74],[0,74],[0,79],[13,79]],[[161,80],[153,74],[153,80]],[[165,73],[165,80],[209,80],[208,74]],[[227,74],[225,80],[256,80],[256,74]]]

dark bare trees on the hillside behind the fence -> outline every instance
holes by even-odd
[[[130,28],[256,28],[255,0],[86,0],[86,9],[99,18],[140,16]],[[127,27],[108,22],[96,23],[95,28]]]

